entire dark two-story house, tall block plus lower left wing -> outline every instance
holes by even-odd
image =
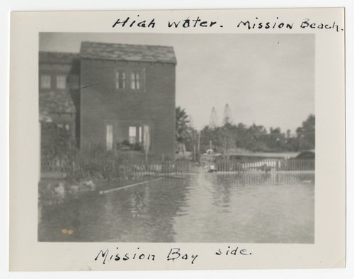
[[[40,115],[81,150],[174,159],[172,47],[82,42],[79,54],[40,52],[39,63]]]

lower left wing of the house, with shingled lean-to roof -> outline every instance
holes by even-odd
[[[58,132],[72,139],[79,134],[79,55],[39,52],[39,113],[42,145],[51,149]]]

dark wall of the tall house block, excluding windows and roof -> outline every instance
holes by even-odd
[[[115,72],[144,71],[144,90],[115,89]],[[152,123],[154,157],[175,154],[175,65],[81,59],[81,149],[105,147],[106,121]]]

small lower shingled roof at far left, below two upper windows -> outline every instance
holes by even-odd
[[[40,91],[40,114],[76,113],[72,97],[67,91]]]

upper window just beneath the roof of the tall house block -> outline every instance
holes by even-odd
[[[127,91],[144,90],[144,71],[118,69],[115,71],[115,89]]]

